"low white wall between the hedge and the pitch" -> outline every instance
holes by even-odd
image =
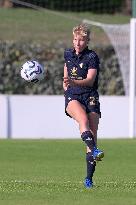
[[[98,138],[128,138],[128,97],[100,96],[100,102]],[[0,138],[80,138],[80,134],[64,113],[63,96],[1,95]]]

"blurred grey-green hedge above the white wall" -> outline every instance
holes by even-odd
[[[65,46],[35,43],[0,42],[0,93],[62,95]],[[93,48],[100,56],[101,95],[123,95],[124,87],[117,57],[112,47]],[[40,83],[27,83],[20,76],[27,60],[40,61],[48,74]]]

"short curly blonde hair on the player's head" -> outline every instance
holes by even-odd
[[[73,28],[73,35],[86,36],[90,40],[90,29],[86,24],[80,24]]]

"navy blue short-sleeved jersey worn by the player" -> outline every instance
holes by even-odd
[[[65,63],[67,66],[68,76],[71,79],[82,80],[87,77],[89,69],[97,69],[97,75],[93,86],[73,86],[68,87],[73,94],[86,93],[98,89],[99,76],[99,58],[97,54],[85,48],[79,55],[76,55],[74,49],[66,49],[64,52]]]

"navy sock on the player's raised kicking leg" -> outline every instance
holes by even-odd
[[[95,147],[95,142],[92,133],[90,131],[85,131],[81,134],[81,138],[89,147],[89,149],[93,150],[93,148]]]

